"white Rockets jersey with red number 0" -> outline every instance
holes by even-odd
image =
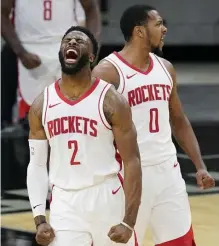
[[[128,64],[117,52],[104,59],[111,62],[120,75],[118,91],[132,109],[142,166],[156,165],[175,155],[169,122],[173,82],[161,59],[151,53],[145,72]]]

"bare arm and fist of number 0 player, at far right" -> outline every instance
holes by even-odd
[[[192,126],[183,111],[183,107],[177,92],[175,69],[173,65],[167,60],[162,59],[162,61],[173,80],[173,89],[169,102],[170,124],[173,135],[180,147],[185,151],[185,153],[194,163],[197,170],[196,178],[198,185],[201,188],[210,188],[214,186],[214,180],[206,171],[206,166],[202,160],[198,141],[196,139]]]

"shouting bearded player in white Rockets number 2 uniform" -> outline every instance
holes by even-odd
[[[97,50],[91,32],[70,28],[59,51],[62,77],[30,108],[27,187],[40,245],[136,245],[141,198],[136,131],[126,99],[114,86],[91,78]],[[124,162],[125,196],[114,139]],[[48,145],[54,185],[50,224],[45,218]]]

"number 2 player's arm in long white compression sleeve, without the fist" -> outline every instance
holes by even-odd
[[[46,204],[46,195],[48,192],[48,174],[47,174],[47,137],[42,125],[43,111],[43,93],[40,94],[30,107],[29,119],[29,145],[30,145],[30,163],[27,171],[27,188],[32,209],[36,209]],[[42,197],[42,198],[41,198]],[[39,201],[39,202],[38,202]],[[39,205],[40,204],[40,205]],[[39,207],[37,207],[39,205]],[[41,208],[40,208],[41,209]],[[46,222],[44,212],[36,211],[34,216],[36,226]]]

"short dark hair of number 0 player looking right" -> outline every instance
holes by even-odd
[[[120,19],[120,29],[126,41],[132,37],[132,32],[136,26],[144,25],[148,19],[148,13],[156,10],[149,5],[133,5],[126,9]]]

